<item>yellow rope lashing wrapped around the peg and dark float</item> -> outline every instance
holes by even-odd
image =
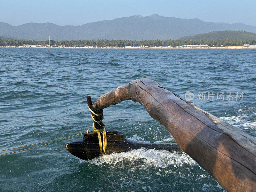
[[[93,111],[92,109],[90,109],[90,108],[89,108],[89,110],[90,110],[90,111],[92,112],[92,114],[95,115],[95,116],[101,116],[101,115],[103,114],[103,112],[102,112],[101,114],[96,114],[96,113],[94,113],[94,111]],[[93,116],[92,114],[91,114],[92,120],[93,120],[92,130],[93,130],[94,132],[97,132],[97,134],[98,134],[99,146],[100,146],[100,154],[101,154],[101,155],[106,155],[106,151],[107,151],[107,133],[106,133],[106,130],[105,130],[106,125],[103,124],[103,125],[104,125],[104,129],[96,129],[96,128],[95,128],[95,125],[94,125],[94,122],[96,122],[96,123],[102,122],[102,120],[103,120],[104,117],[102,117],[102,119],[101,119],[100,121],[96,121],[96,120],[93,118],[94,116]],[[101,141],[100,133],[102,133],[102,141]]]

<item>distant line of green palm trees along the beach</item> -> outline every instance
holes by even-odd
[[[181,46],[181,45],[215,45],[215,46],[239,46],[244,44],[255,45],[256,39],[252,40],[232,40],[232,39],[220,39],[220,40],[141,40],[141,41],[132,41],[132,40],[61,40],[61,41],[50,41],[51,45],[67,45],[67,46],[98,46],[98,47],[107,47],[107,46],[116,46],[116,47],[125,47],[125,46],[149,46],[149,47],[159,47],[159,46]],[[17,40],[17,39],[0,39],[0,46],[20,46],[23,44],[40,44],[40,45],[49,45],[49,40],[45,41],[35,41],[35,40]]]

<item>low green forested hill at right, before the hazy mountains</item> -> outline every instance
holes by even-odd
[[[185,36],[180,39],[188,40],[218,40],[218,39],[233,39],[233,40],[251,40],[256,39],[256,33],[248,31],[212,31],[193,36]]]

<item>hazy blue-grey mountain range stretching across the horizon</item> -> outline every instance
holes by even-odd
[[[26,23],[12,26],[0,22],[0,36],[27,40],[76,40],[76,39],[179,39],[184,36],[212,31],[243,30],[256,33],[256,26],[243,23],[213,23],[199,19],[180,19],[157,14],[142,17],[133,15],[114,20],[87,23],[81,26],[59,26],[52,23]]]

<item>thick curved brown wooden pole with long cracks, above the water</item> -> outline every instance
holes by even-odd
[[[123,100],[139,102],[178,146],[228,192],[256,191],[256,138],[197,108],[152,79],[137,79],[92,104],[102,111]]]

